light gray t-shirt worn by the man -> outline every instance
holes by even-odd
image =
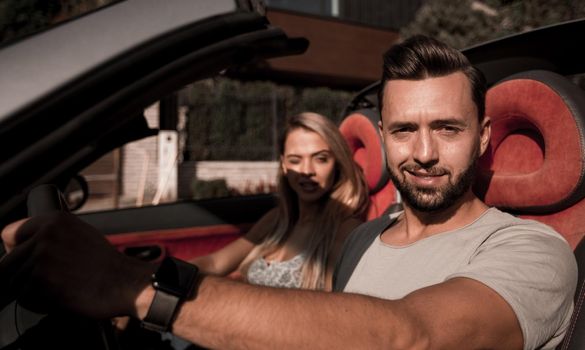
[[[404,246],[385,244],[377,227],[345,292],[399,299],[454,277],[472,278],[512,307],[525,349],[553,349],[573,310],[577,265],[567,242],[550,227],[495,208],[473,223]],[[355,242],[355,237],[354,237]],[[349,241],[348,241],[349,243]],[[346,245],[345,254],[351,254]]]

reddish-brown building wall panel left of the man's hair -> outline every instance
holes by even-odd
[[[267,17],[290,37],[310,42],[302,55],[268,60],[269,75],[308,85],[361,89],[382,73],[382,55],[399,39],[395,31],[333,18],[268,9]]]

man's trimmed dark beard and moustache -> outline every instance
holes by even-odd
[[[451,179],[451,174],[446,169],[436,167],[403,166],[399,169],[399,174],[394,173],[390,168],[388,171],[404,202],[420,212],[436,212],[451,207],[469,190],[475,179],[478,158],[477,154],[474,155],[469,166],[455,179]],[[446,174],[449,176],[449,182],[444,186],[435,188],[419,187],[408,183],[403,172],[405,170],[413,171],[417,168],[425,169],[429,174]]]

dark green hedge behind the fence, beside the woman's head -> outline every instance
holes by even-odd
[[[352,93],[271,82],[208,79],[187,87],[185,160],[275,160],[285,118],[299,112],[341,119]]]

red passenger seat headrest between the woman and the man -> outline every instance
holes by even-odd
[[[397,199],[396,189],[389,181],[386,156],[378,133],[379,116],[372,110],[360,110],[347,116],[339,130],[347,140],[354,160],[364,170],[370,190],[367,219],[380,216]]]

